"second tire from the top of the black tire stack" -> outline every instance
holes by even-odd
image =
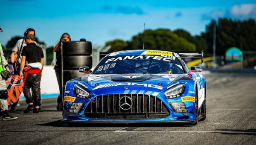
[[[90,69],[93,66],[92,56],[87,55],[76,55],[76,56],[64,56],[63,57],[63,70],[78,70],[80,67],[89,67]]]

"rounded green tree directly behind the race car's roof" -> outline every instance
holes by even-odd
[[[145,39],[144,39],[145,36]],[[144,41],[145,40],[145,41]],[[179,37],[169,29],[145,30],[132,37],[126,49],[145,49],[163,51],[195,51],[195,44]]]

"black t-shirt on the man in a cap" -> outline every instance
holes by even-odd
[[[27,44],[27,46],[24,46],[21,55],[26,56],[28,64],[41,62],[41,58],[44,58],[43,49],[35,43],[30,43]]]

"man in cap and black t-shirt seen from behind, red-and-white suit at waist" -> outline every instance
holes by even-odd
[[[30,110],[33,110],[33,113],[38,113],[39,106],[41,106],[40,81],[44,67],[44,53],[42,48],[34,42],[34,35],[26,35],[27,46],[23,48],[21,53],[20,77],[24,78],[23,93],[26,103],[29,104],[24,113],[29,113]],[[23,74],[23,70],[25,74]],[[30,88],[32,88],[32,95]]]

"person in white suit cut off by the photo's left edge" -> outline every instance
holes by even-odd
[[[0,32],[3,32],[3,30],[0,28]],[[9,70],[9,65],[3,55],[3,49],[0,44],[0,62],[3,65],[0,65],[0,72],[3,72],[4,69],[10,72]],[[17,117],[11,116],[9,113],[7,113],[8,110],[8,103],[7,103],[7,98],[8,98],[8,93],[7,93],[7,88],[6,88],[6,81],[4,78],[2,78],[2,75],[0,75],[0,104],[1,104],[1,109],[0,109],[0,116],[3,116],[2,120],[3,121],[9,121],[9,120],[15,120]]]

